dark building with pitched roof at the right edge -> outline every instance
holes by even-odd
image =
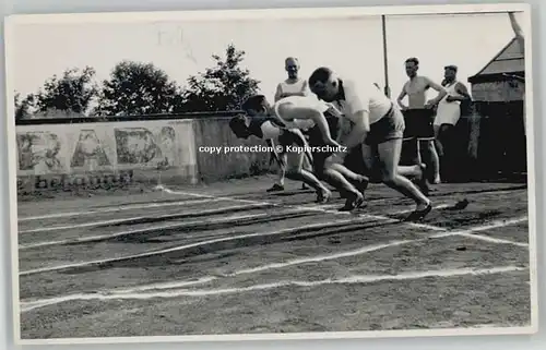
[[[470,145],[482,179],[526,174],[525,83],[510,75],[525,76],[517,38],[468,77],[474,106],[467,126]]]

